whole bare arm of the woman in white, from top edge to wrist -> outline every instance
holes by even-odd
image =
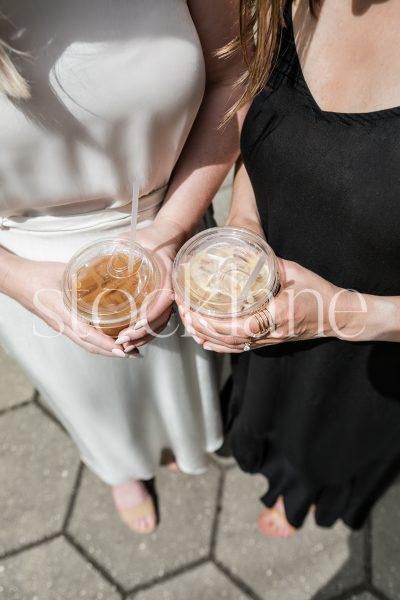
[[[188,0],[203,50],[206,90],[202,105],[170,181],[156,222],[181,242],[190,237],[239,156],[240,131],[247,107],[220,127],[241,98],[235,85],[245,71],[240,52],[220,58],[218,50],[239,34],[239,0]]]

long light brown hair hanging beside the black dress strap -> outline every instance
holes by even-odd
[[[309,0],[314,16],[320,1]],[[241,52],[245,62],[245,70],[237,82],[243,88],[243,94],[229,110],[225,120],[265,86],[279,51],[287,4],[288,0],[240,0],[238,36],[218,52],[220,57]]]

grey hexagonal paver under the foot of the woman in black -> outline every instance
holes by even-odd
[[[363,579],[363,535],[341,524],[322,529],[310,517],[299,533],[271,540],[256,526],[258,500],[267,484],[261,476],[226,474],[216,557],[260,598],[322,600]]]

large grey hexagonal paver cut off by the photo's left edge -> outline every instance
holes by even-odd
[[[33,405],[0,417],[0,554],[60,530],[79,466],[69,438]]]

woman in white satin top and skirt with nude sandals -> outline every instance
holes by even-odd
[[[171,288],[172,260],[238,154],[238,122],[218,124],[241,67],[214,54],[234,34],[233,4],[2,2],[0,341],[141,532],[155,527],[143,481],[162,450],[196,474],[222,442],[218,371],[173,333],[170,291],[148,315],[164,337],[142,327],[117,344],[73,322],[61,277],[80,247],[128,231],[136,179],[139,240]]]

